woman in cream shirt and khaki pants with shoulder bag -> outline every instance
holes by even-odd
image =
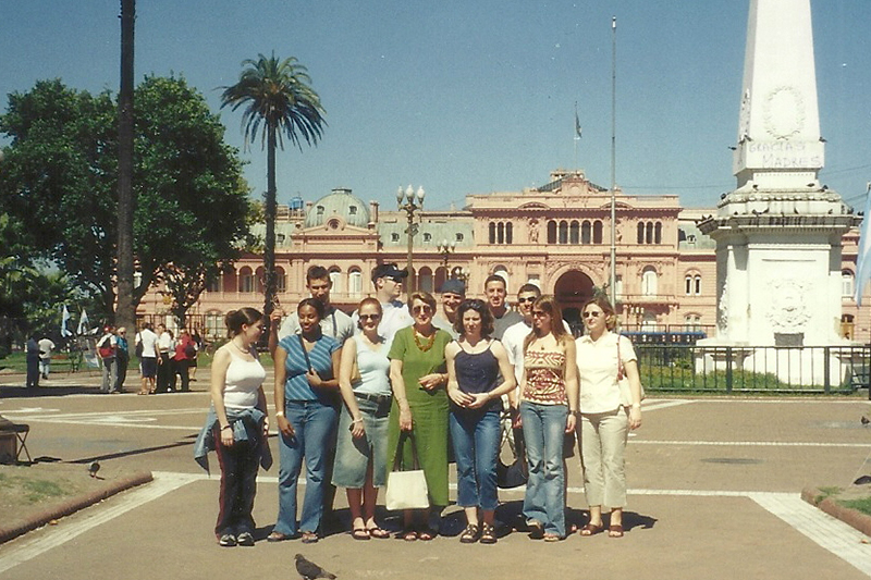
[[[587,334],[577,340],[580,378],[581,467],[590,504],[590,521],[580,535],[604,530],[602,506],[611,508],[608,534],[623,536],[626,505],[624,457],[629,429],[641,427],[641,382],[631,342],[612,333],[617,317],[604,298],[588,300],[581,309]],[[629,381],[628,398],[619,381]]]

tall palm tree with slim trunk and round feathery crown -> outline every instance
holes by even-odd
[[[221,94],[221,108],[231,107],[233,111],[245,107],[242,115],[242,132],[246,147],[257,135],[260,145],[267,150],[266,190],[266,247],[263,248],[265,306],[267,321],[272,311],[278,293],[275,280],[275,148],[284,149],[283,136],[303,150],[306,145],[317,145],[327,122],[320,97],[310,87],[311,78],[307,69],[294,58],[279,60],[275,53],[267,58],[242,62],[238,83]]]

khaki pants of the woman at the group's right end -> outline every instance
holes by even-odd
[[[587,504],[626,505],[625,452],[629,419],[624,407],[581,415],[580,465]]]

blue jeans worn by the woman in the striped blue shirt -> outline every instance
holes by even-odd
[[[284,416],[294,430],[294,436],[280,435],[281,467],[279,468],[279,517],[273,531],[286,535],[316,532],[323,513],[323,492],[327,481],[330,440],[335,433],[335,408],[317,400],[289,400]],[[306,461],[306,493],[303,517],[296,527],[296,482]]]

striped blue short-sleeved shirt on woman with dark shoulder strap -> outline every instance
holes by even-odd
[[[335,398],[334,390],[312,388],[308,383],[308,378],[306,378],[308,365],[306,363],[303,346],[299,344],[299,335],[291,334],[285,336],[279,342],[279,346],[287,351],[287,358],[284,361],[284,368],[287,371],[287,378],[284,381],[284,399],[320,400],[324,405],[331,404]],[[318,338],[315,347],[308,353],[311,368],[321,379],[329,380],[333,378],[332,354],[341,347],[342,345],[335,342],[334,338],[324,334]]]

